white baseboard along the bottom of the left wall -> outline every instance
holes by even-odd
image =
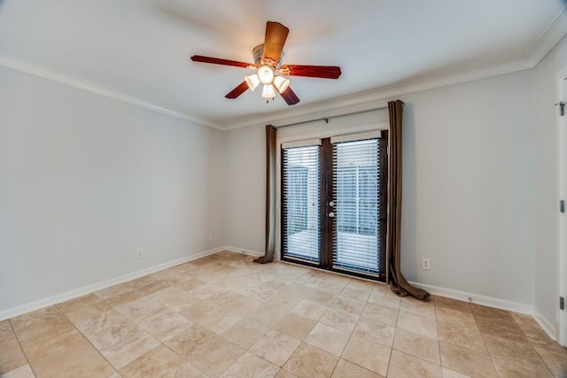
[[[92,285],[83,286],[82,288],[79,288],[79,289],[66,291],[65,293],[56,294],[54,296],[46,297],[46,298],[43,298],[43,299],[40,299],[40,300],[37,300],[37,301],[34,301],[34,302],[27,303],[25,305],[19,305],[19,306],[16,306],[16,307],[12,307],[12,308],[9,308],[7,310],[0,311],[0,320],[13,318],[14,316],[19,316],[19,315],[22,315],[22,314],[27,313],[27,312],[39,310],[39,309],[42,309],[43,307],[48,307],[50,305],[57,305],[58,303],[65,302],[65,301],[68,301],[70,299],[74,299],[76,297],[85,296],[89,293],[92,293],[93,291],[106,289],[106,288],[109,288],[113,285],[117,285],[117,284],[122,283],[122,282],[132,281],[132,280],[135,280],[136,278],[142,277],[142,276],[147,275],[147,274],[159,272],[160,270],[164,270],[164,269],[167,269],[167,268],[172,267],[172,266],[177,266],[177,265],[189,262],[189,261],[196,260],[198,258],[204,258],[204,257],[212,255],[214,253],[217,253],[217,252],[220,252],[220,251],[227,251],[227,250],[231,251],[229,247],[222,246],[222,247],[219,247],[219,248],[214,248],[213,250],[198,252],[196,254],[186,256],[186,257],[183,257],[183,258],[177,258],[173,261],[169,261],[167,263],[159,264],[157,266],[151,266],[151,267],[148,267],[148,268],[145,268],[145,269],[142,269],[142,270],[130,273],[130,274],[124,274],[124,275],[121,275],[120,277],[111,278],[110,280],[105,280],[103,282],[97,282],[97,283],[94,283]]]

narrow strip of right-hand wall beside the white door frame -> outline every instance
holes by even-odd
[[[535,104],[535,308],[558,329],[557,319],[557,135],[555,73],[567,66],[563,38],[533,70]]]

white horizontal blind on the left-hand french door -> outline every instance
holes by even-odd
[[[283,148],[283,255],[319,262],[319,145]]]

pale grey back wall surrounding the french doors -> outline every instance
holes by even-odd
[[[531,306],[532,72],[399,98],[407,104],[403,273],[410,281]],[[357,107],[384,104],[386,100]],[[329,125],[283,129],[278,139],[329,134],[349,126],[358,130],[384,120],[384,112],[331,120]],[[229,203],[238,204],[229,206],[227,230],[241,221],[237,231],[227,231],[227,243],[243,249],[261,248],[258,251],[263,251],[264,243],[263,135],[264,127],[259,125],[233,130],[227,138],[229,182],[246,178],[229,193]],[[242,222],[244,214],[251,214],[250,221]],[[419,268],[422,257],[431,259],[431,270]]]

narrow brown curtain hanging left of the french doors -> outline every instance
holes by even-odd
[[[266,250],[254,262],[274,261],[276,250],[276,127],[266,126]]]

